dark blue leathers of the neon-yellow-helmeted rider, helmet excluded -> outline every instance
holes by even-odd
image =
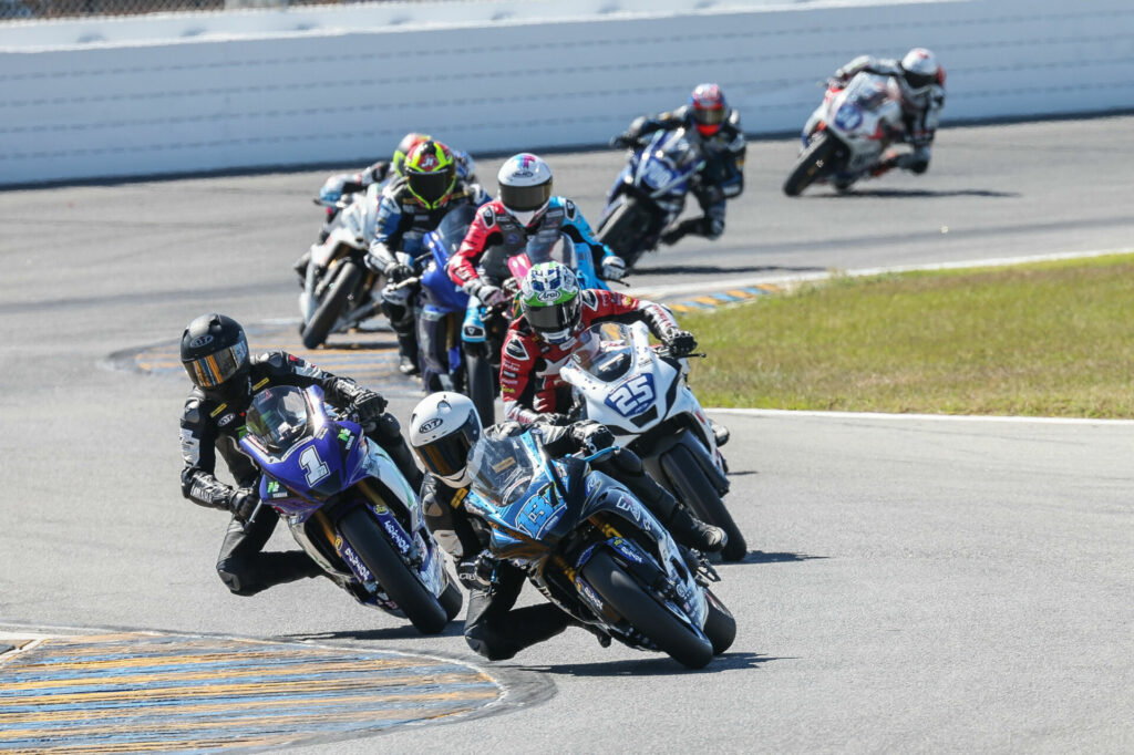
[[[417,336],[414,326],[414,286],[397,287],[407,278],[421,272],[422,239],[441,224],[449,211],[472,204],[481,206],[489,201],[480,184],[457,179],[452,195],[440,207],[430,210],[409,190],[405,177],[399,177],[382,189],[374,221],[374,240],[370,244],[366,265],[386,274],[382,291],[382,312],[390,321],[398,338],[401,372],[416,373]],[[399,254],[400,253],[400,254]]]

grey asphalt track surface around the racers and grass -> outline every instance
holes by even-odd
[[[796,200],[779,193],[795,145],[753,143],[726,236],[646,257],[634,282],[1126,248],[1132,126],[946,129],[924,177]],[[595,217],[620,161],[555,155],[557,189]],[[322,579],[229,595],[213,570],[227,517],[179,492],[187,381],[109,357],[210,309],[294,316],[325,172],[0,193],[0,620],[16,634],[437,654],[521,709],[289,752],[1134,750],[1128,424],[719,415],[753,552],[721,568],[739,633],[700,672],[579,630],[480,664],[459,623],[421,638]],[[412,385],[388,389],[406,417]]]

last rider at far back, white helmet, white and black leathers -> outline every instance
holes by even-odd
[[[930,147],[945,107],[945,68],[932,52],[914,48],[902,60],[858,56],[835,71],[832,83],[845,86],[861,71],[889,76],[897,82],[905,121],[902,138],[913,146],[913,152],[888,153],[872,170],[873,175],[881,176],[891,168],[924,173],[929,170]]]

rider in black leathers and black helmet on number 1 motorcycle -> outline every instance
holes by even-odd
[[[272,585],[322,574],[303,551],[261,552],[278,516],[269,506],[257,508],[259,473],[238,444],[256,391],[319,385],[329,404],[358,413],[366,436],[390,455],[412,484],[421,482],[398,421],[386,413],[382,396],[286,351],[249,357],[244,329],[231,317],[213,313],[193,320],[181,334],[181,364],[193,381],[180,422],[181,493],[198,506],[232,515],[217,557],[217,572],[236,595],[254,595]],[[217,451],[236,486],[217,478]]]

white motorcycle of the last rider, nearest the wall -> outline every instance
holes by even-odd
[[[827,181],[841,192],[868,176],[904,130],[899,97],[888,76],[862,71],[845,87],[829,82],[822,104],[803,128],[803,150],[784,181],[784,194],[797,196]]]

